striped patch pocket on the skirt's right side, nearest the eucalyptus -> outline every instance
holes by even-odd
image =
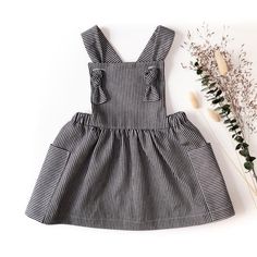
[[[187,150],[187,155],[212,219],[227,211],[233,215],[231,198],[211,144]]]

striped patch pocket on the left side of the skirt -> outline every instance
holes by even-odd
[[[66,167],[70,151],[50,144],[25,213],[44,222],[51,197]]]

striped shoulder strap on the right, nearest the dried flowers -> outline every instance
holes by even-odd
[[[164,60],[174,40],[175,32],[159,25],[138,58],[138,62]]]

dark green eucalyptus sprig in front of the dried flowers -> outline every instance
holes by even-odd
[[[213,77],[208,70],[205,70],[198,61],[196,61],[193,66],[196,74],[200,77],[199,79],[203,86],[201,91],[205,91],[207,100],[211,102],[215,107],[215,111],[219,113],[223,123],[229,128],[229,132],[232,133],[232,138],[236,142],[235,150],[238,150],[240,155],[245,158],[244,168],[246,169],[246,172],[250,172],[257,182],[254,166],[254,160],[256,158],[249,152],[249,145],[244,138],[244,133],[240,127],[240,123],[233,115],[230,102],[228,102],[221,87],[219,86],[220,81]],[[225,75],[225,72],[222,75]]]

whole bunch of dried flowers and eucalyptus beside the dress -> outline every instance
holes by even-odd
[[[235,149],[245,158],[244,168],[257,182],[254,167],[256,158],[250,155],[245,139],[247,132],[257,132],[257,84],[252,75],[253,63],[246,60],[244,45],[237,54],[228,50],[229,42],[233,40],[228,34],[223,33],[221,41],[213,44],[216,33],[205,23],[196,28],[196,34],[198,41],[188,32],[182,45],[193,58],[188,65],[182,66],[195,71],[199,76],[201,91],[213,108],[210,114],[218,113],[232,132],[232,138],[236,142]]]

